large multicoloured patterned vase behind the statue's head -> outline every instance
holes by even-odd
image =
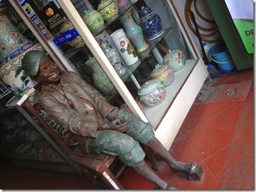
[[[7,9],[6,4],[0,3],[0,78],[16,97],[22,97],[37,84],[22,70],[22,58],[32,49],[42,51],[42,46],[30,42],[16,29],[6,15]]]

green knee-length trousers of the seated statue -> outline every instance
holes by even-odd
[[[144,123],[129,112],[120,110],[118,116],[128,122],[129,129],[125,133],[112,130],[99,131],[96,138],[89,138],[87,148],[90,153],[118,156],[125,165],[134,166],[142,162],[145,157],[139,143],[150,143],[155,138],[155,134],[150,123]]]

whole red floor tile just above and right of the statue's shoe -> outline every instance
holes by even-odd
[[[219,114],[184,137],[204,160],[231,143],[236,125],[236,122]]]

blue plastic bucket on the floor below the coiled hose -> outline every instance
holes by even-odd
[[[214,61],[217,66],[224,71],[231,71],[236,68],[229,52],[221,43],[212,45],[208,51],[208,55],[212,61]]]

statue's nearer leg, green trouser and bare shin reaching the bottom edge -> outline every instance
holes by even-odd
[[[96,138],[90,138],[87,143],[91,153],[107,153],[118,156],[127,166],[131,166],[136,172],[162,189],[170,188],[170,185],[160,179],[151,167],[144,162],[145,153],[139,142],[131,136],[118,131],[99,131]],[[170,189],[176,189],[171,187]]]

